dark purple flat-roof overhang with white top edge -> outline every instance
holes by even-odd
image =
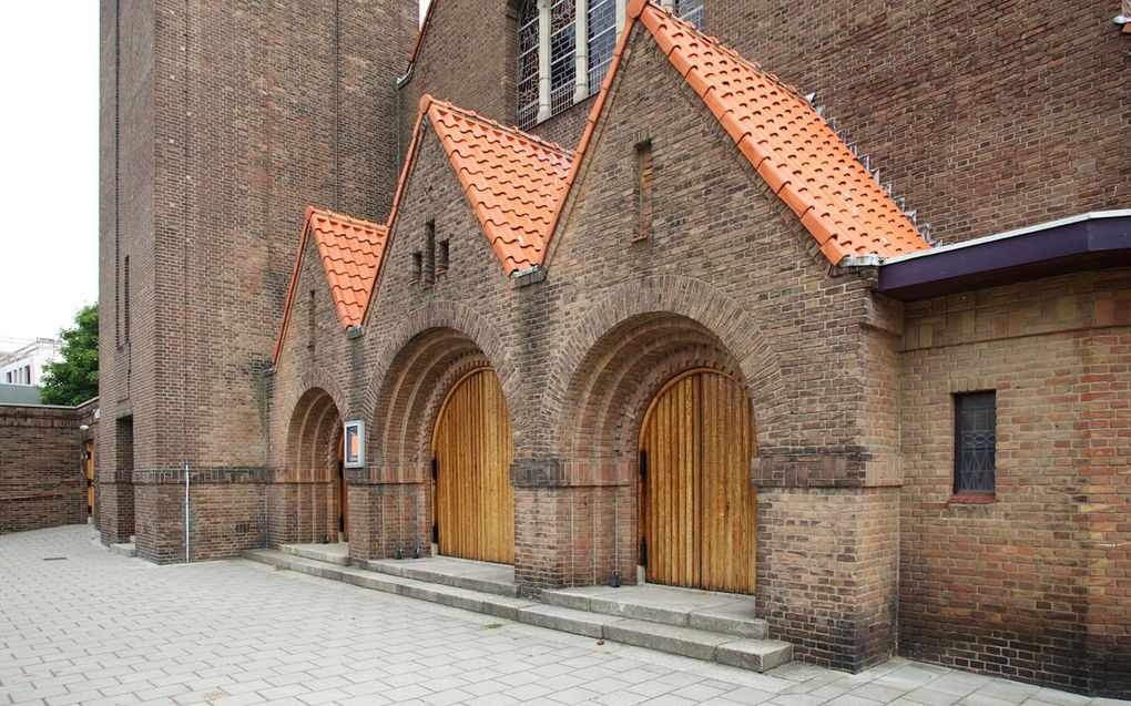
[[[846,263],[847,264],[847,263]],[[877,291],[904,302],[1131,265],[1131,209],[1096,211],[881,260]]]

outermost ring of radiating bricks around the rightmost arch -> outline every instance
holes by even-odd
[[[628,281],[598,300],[563,337],[566,343],[549,377],[545,400],[556,406],[555,428],[576,416],[587,401],[579,387],[598,373],[582,369],[602,340],[627,321],[646,314],[674,314],[691,320],[718,339],[742,373],[758,419],[759,446],[763,435],[786,416],[787,399],[778,357],[757,321],[726,293],[709,284],[680,274],[658,274]],[[568,438],[556,439],[562,453]]]

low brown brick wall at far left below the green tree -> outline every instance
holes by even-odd
[[[0,404],[0,534],[86,522],[84,442],[97,401]]]

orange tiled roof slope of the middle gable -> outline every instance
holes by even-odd
[[[421,110],[507,274],[542,264],[573,154],[431,96]]]

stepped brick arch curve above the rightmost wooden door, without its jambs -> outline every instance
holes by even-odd
[[[559,400],[551,425],[559,457],[584,472],[590,457],[630,453],[648,401],[681,369],[714,367],[742,381],[753,402],[759,446],[787,412],[777,356],[757,323],[725,293],[701,280],[659,276],[628,282],[573,326],[553,369]],[[613,410],[616,410],[614,412]],[[625,417],[625,415],[628,415]],[[632,439],[632,441],[628,441]]]

